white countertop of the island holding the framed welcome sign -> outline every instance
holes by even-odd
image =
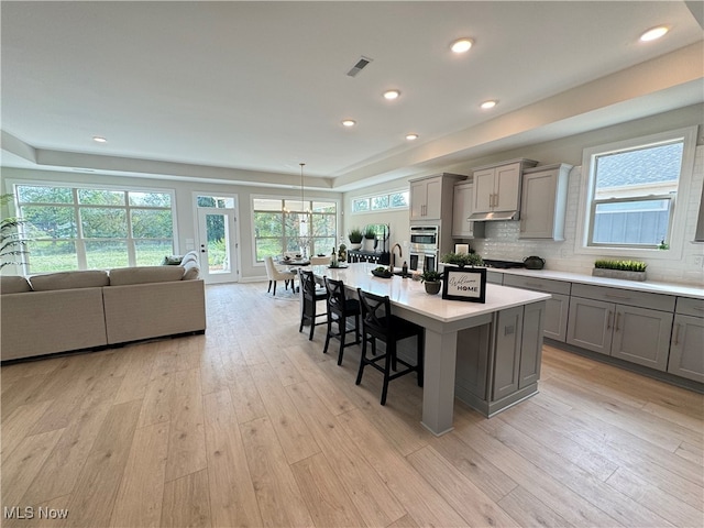
[[[425,285],[420,280],[403,278],[398,275],[391,278],[375,277],[372,275],[372,270],[377,266],[377,264],[371,263],[354,263],[349,264],[346,268],[329,268],[327,266],[311,266],[311,268],[316,275],[326,275],[329,278],[342,280],[348,287],[362,288],[364,292],[376,295],[388,295],[393,304],[443,323],[550,298],[550,295],[539,292],[487,283],[484,304],[448,300],[442,298],[442,293],[426,294]]]

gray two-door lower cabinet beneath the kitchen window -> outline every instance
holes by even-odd
[[[566,342],[666,371],[672,314],[572,297]]]

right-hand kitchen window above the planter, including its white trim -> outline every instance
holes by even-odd
[[[676,202],[689,188],[695,134],[693,127],[584,151],[584,249],[645,256],[681,234]]]

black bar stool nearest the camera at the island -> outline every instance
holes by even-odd
[[[360,361],[360,372],[356,376],[356,385],[362,383],[362,374],[364,366],[370,365],[384,374],[384,388],[382,389],[382,405],[386,405],[386,394],[388,392],[388,382],[397,377],[405,376],[411,372],[418,373],[418,386],[422,387],[422,360],[425,334],[422,327],[415,324],[406,319],[394,316],[392,314],[392,304],[388,296],[381,297],[378,295],[356,289],[362,305],[362,359]],[[396,355],[396,344],[407,338],[416,337],[417,339],[417,359],[416,364],[411,365]],[[386,343],[386,353],[376,355],[376,340]],[[373,358],[366,356],[366,343],[372,343]],[[380,365],[378,362],[384,362]],[[403,364],[406,369],[395,372],[397,363]],[[392,374],[392,370],[394,374]]]

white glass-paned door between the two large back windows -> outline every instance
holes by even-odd
[[[234,209],[199,207],[198,251],[206,284],[237,283],[239,244]]]

